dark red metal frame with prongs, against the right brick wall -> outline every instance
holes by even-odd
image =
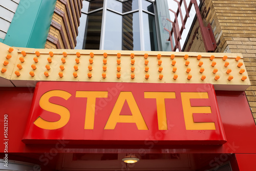
[[[181,39],[182,32],[185,29],[185,24],[186,24],[187,18],[189,17],[189,12],[190,12],[190,9],[191,9],[193,4],[194,4],[195,9],[196,9],[196,14],[197,14],[201,34],[202,34],[202,37],[203,37],[205,50],[206,50],[206,52],[215,51],[216,48],[217,48],[217,44],[216,44],[214,34],[212,32],[210,24],[208,24],[207,27],[205,27],[203,25],[203,20],[202,20],[201,14],[200,14],[200,10],[199,10],[197,1],[196,0],[191,0],[188,7],[187,7],[187,4],[186,4],[186,1],[184,1],[184,7],[185,7],[185,10],[186,10],[186,15],[185,15],[184,19],[183,19],[182,10],[181,10],[181,4],[182,4],[183,0],[180,0],[180,2],[178,2],[176,0],[174,0],[174,1],[178,4],[177,12],[174,12],[171,9],[169,9],[169,11],[174,13],[175,19],[174,19],[174,21],[172,21],[172,20],[166,18],[168,20],[168,22],[172,23],[173,28],[172,28],[171,31],[164,28],[166,31],[169,32],[169,38],[167,39],[167,41],[170,41],[172,51],[176,51],[176,49],[179,49],[179,52],[181,52],[180,39]],[[180,18],[181,18],[181,23],[182,23],[181,29],[179,28],[179,24],[178,24],[178,15],[179,15],[179,13],[180,13]],[[173,45],[174,42],[172,40],[173,33],[174,33],[175,46]]]

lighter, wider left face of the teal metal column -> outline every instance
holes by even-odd
[[[27,47],[41,2],[44,0],[20,0],[4,44]]]

